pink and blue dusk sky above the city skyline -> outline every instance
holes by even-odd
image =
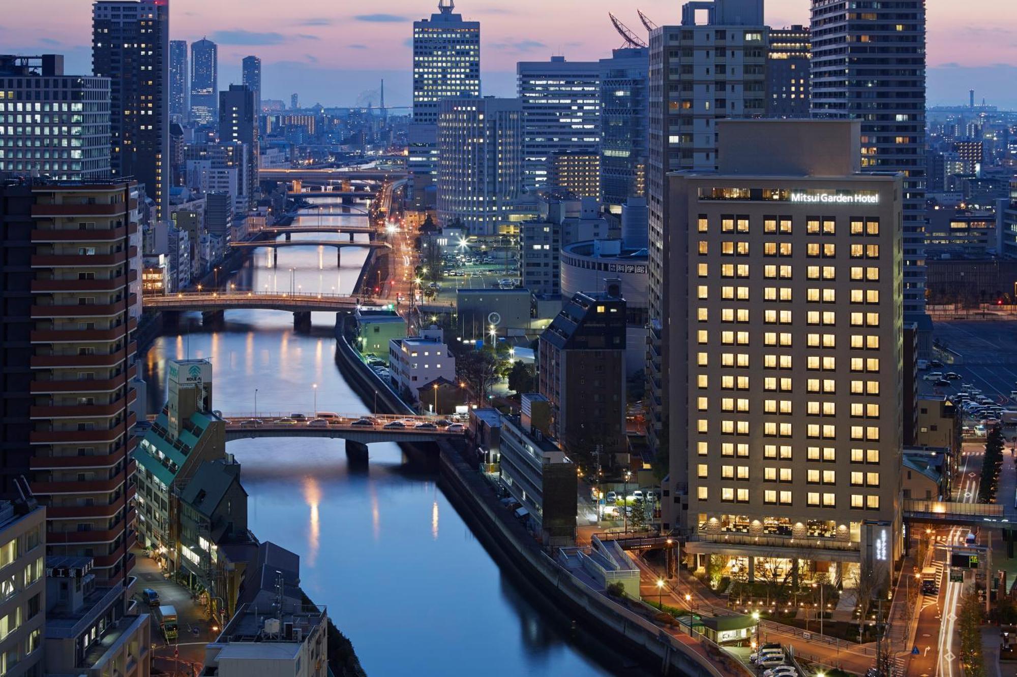
[[[4,1],[3,4],[6,4]],[[219,44],[221,88],[240,81],[240,60],[263,63],[262,98],[302,105],[363,105],[381,78],[390,106],[410,100],[413,20],[437,0],[170,0],[170,37]],[[610,56],[621,40],[607,12],[645,35],[636,8],[658,24],[678,23],[679,0],[458,0],[464,18],[481,22],[483,94],[515,96],[517,61],[563,54]],[[809,23],[809,0],[767,0],[772,26]],[[1017,108],[1017,2],[928,0],[929,103],[966,103],[967,90]],[[7,7],[0,50],[63,53],[72,72],[91,72],[91,0],[34,0]],[[373,103],[377,103],[374,101]]]

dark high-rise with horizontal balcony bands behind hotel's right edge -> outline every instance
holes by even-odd
[[[903,172],[904,312],[925,310],[925,2],[813,0],[813,117],[861,120],[865,171]],[[919,326],[918,357],[932,351]]]

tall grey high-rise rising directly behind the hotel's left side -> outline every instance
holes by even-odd
[[[697,10],[703,9],[706,23],[698,25]],[[670,321],[664,275],[671,265],[664,248],[668,223],[665,177],[678,170],[714,169],[717,120],[763,116],[766,32],[763,0],[715,0],[686,3],[681,8],[681,25],[660,26],[650,34],[646,402],[648,440],[658,454],[658,437],[662,432],[666,435],[663,416],[667,392],[662,383],[670,369],[663,335]],[[718,96],[718,89],[725,96]]]

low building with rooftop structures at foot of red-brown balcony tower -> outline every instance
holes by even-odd
[[[91,557],[46,558],[46,673],[148,677],[152,621],[123,586],[98,584]]]

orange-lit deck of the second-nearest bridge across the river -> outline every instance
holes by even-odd
[[[358,305],[369,303],[370,299],[366,296],[354,297],[347,294],[255,294],[253,292],[169,294],[146,296],[141,302],[145,309],[180,312],[190,310],[204,313],[238,308],[288,310],[294,313],[343,312],[355,310]]]

